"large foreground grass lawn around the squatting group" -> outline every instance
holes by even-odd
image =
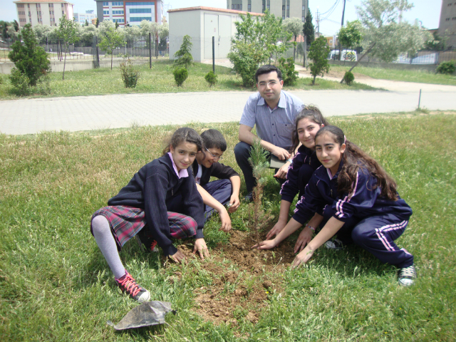
[[[204,229],[214,259],[204,263],[164,267],[158,254],[125,245],[120,257],[128,270],[152,299],[170,301],[178,313],[167,316],[169,325],[115,333],[106,321],[117,323],[138,304],[119,294],[90,235],[90,216],[160,156],[176,127],[0,135],[1,341],[455,341],[456,113],[330,119],[385,167],[413,209],[397,240],[415,256],[413,287],[398,286],[393,266],[361,249],[321,248],[300,269],[244,279],[254,286],[269,276],[277,284],[258,304],[256,323],[249,320],[252,293],[227,313],[237,323],[205,321],[195,292],[222,280],[222,296],[229,296],[244,274],[223,259],[230,235],[217,230],[216,216]],[[221,130],[229,145],[223,161],[237,168],[237,123],[191,126]],[[271,179],[264,209],[275,217],[278,192]],[[234,231],[246,230],[248,212],[242,204],[232,214]],[[210,267],[239,278],[226,281]]]

